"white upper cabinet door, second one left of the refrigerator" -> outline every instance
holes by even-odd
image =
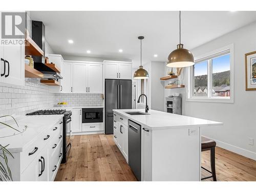
[[[88,91],[88,67],[83,63],[73,63],[72,93],[87,93]]]

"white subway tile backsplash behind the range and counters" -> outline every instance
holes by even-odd
[[[69,106],[103,105],[101,94],[54,94],[39,79],[25,78],[25,86],[0,84],[0,115],[24,115],[58,102],[68,102]]]

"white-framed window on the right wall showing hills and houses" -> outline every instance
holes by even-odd
[[[229,49],[196,59],[188,74],[188,101],[233,102],[232,53],[232,46],[229,46]]]

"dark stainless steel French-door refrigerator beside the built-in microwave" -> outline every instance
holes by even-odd
[[[105,134],[113,134],[113,109],[132,109],[132,80],[105,79]]]

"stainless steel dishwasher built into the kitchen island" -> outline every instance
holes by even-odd
[[[128,120],[129,166],[138,181],[141,180],[141,125]]]

